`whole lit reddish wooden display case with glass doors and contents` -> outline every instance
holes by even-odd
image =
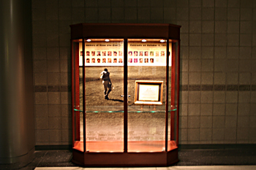
[[[176,163],[181,26],[70,27],[72,161],[81,166]]]

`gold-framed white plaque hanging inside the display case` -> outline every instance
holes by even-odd
[[[163,81],[135,81],[135,104],[162,104]]]

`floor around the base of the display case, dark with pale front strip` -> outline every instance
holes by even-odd
[[[119,168],[119,169],[145,169],[145,170],[179,170],[179,169],[245,169],[256,170],[256,149],[222,149],[222,150],[180,150],[179,162],[170,167],[153,168]],[[28,164],[0,164],[1,170],[59,170],[71,169],[90,170],[81,168],[71,162],[70,150],[40,150],[34,152],[34,157]],[[108,168],[116,169],[116,168]],[[99,170],[99,169],[97,169]],[[107,170],[107,169],[106,169]]]

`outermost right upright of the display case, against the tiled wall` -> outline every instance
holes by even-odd
[[[179,80],[180,80],[180,45],[181,41],[178,40],[178,52],[177,52],[177,127],[176,127],[176,146],[178,147],[178,125],[179,125]]]

